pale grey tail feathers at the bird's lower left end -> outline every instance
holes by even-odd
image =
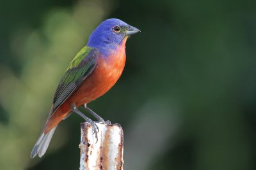
[[[47,134],[45,134],[44,131],[42,132],[31,152],[31,158],[34,158],[36,155],[38,155],[38,157],[42,157],[44,155],[49,146],[49,143],[52,139],[52,135],[54,134],[56,127],[53,127],[51,131],[47,132]]]

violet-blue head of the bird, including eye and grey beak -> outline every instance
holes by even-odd
[[[139,29],[122,20],[111,18],[104,20],[91,34],[88,46],[99,50],[115,50],[126,36],[139,32]]]

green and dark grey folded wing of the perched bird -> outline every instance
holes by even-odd
[[[77,90],[84,79],[92,73],[96,66],[95,57],[98,53],[95,48],[84,46],[70,62],[54,94],[53,106],[49,117]]]

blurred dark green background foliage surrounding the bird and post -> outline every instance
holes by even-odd
[[[78,169],[80,122],[29,154],[61,75],[106,18],[138,27],[90,108],[124,129],[125,169],[256,169],[256,1],[0,1],[0,169]]]

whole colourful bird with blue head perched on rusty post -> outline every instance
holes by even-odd
[[[125,66],[125,43],[139,29],[117,18],[101,22],[90,34],[88,43],[74,57],[63,74],[53,97],[46,123],[36,141],[31,158],[42,157],[61,120],[77,113],[92,125],[97,137],[98,127],[77,108],[83,107],[103,124],[108,124],[87,104],[108,92],[120,78]]]

